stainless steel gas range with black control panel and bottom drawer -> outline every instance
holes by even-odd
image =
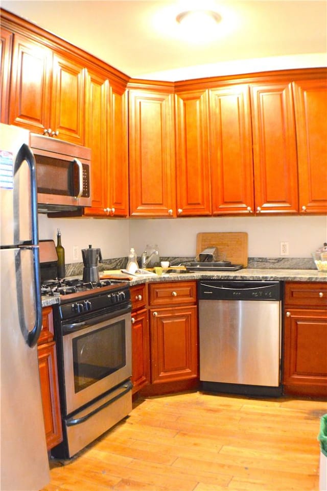
[[[50,280],[42,294],[53,306],[63,442],[68,459],[132,409],[131,302],[127,283]]]

